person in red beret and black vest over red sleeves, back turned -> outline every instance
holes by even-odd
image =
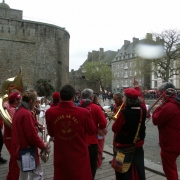
[[[133,144],[138,124],[141,120],[142,122],[130,169],[126,173],[115,171],[116,180],[145,180],[143,144],[145,138],[146,106],[142,100],[138,81],[135,78],[134,88],[125,89],[123,99],[125,107],[119,112],[112,126],[112,131],[115,133],[113,142],[114,156],[116,156],[118,148]]]

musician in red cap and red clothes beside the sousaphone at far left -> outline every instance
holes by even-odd
[[[7,109],[11,118],[13,118],[16,108],[21,101],[21,95],[18,92],[13,92],[8,96],[8,102],[4,103],[4,109]],[[17,161],[11,156],[11,127],[4,124],[4,144],[10,154],[9,172],[6,176],[6,180],[18,180],[19,179],[19,167]]]

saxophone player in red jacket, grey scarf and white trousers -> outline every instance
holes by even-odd
[[[38,148],[49,150],[47,143],[44,143],[38,136],[34,126],[32,110],[37,100],[37,93],[34,90],[27,90],[22,95],[22,101],[16,110],[12,120],[12,136],[11,147],[12,155],[18,160],[18,165],[21,167],[19,150],[28,147],[34,147],[35,161],[37,168],[30,172],[23,172],[20,168],[19,180],[43,179],[43,171],[39,161]]]

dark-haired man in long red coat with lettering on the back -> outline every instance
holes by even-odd
[[[64,85],[60,103],[45,114],[54,137],[54,180],[92,180],[86,135],[95,134],[96,127],[88,110],[74,106],[75,94],[73,86]]]

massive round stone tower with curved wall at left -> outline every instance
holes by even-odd
[[[49,79],[56,90],[69,82],[69,33],[22,19],[22,11],[0,3],[0,86],[22,67],[24,88]]]

